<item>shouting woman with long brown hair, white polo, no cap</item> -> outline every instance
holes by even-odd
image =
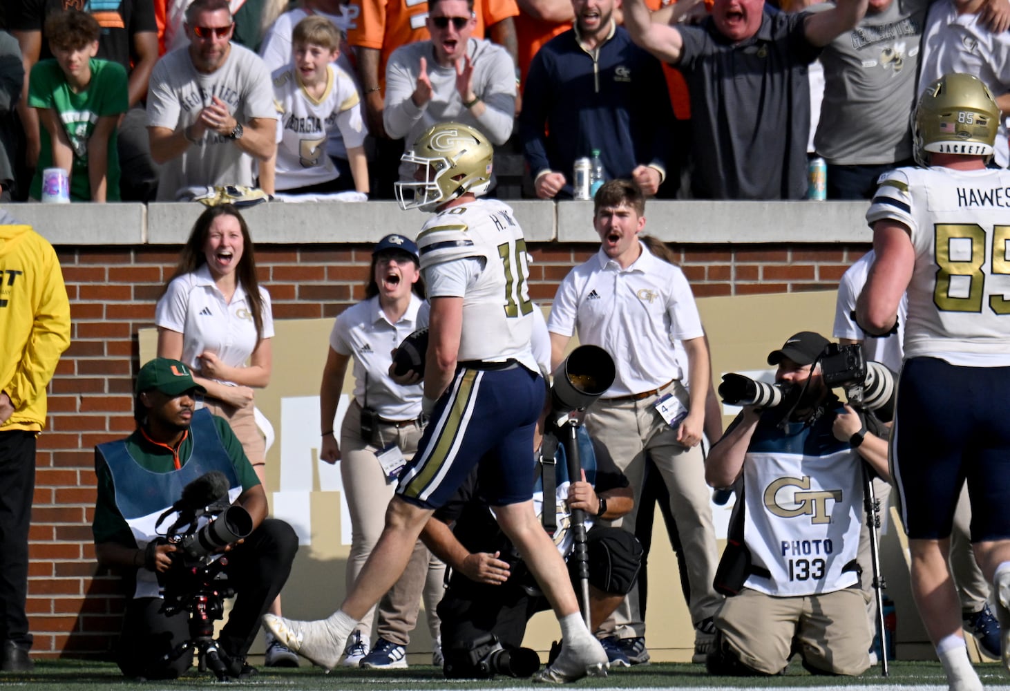
[[[211,206],[197,218],[158,301],[155,323],[159,357],[189,365],[193,381],[207,390],[202,405],[228,420],[266,490],[267,449],[252,390],[270,383],[274,317],[237,208]],[[271,612],[281,612],[280,597]],[[268,666],[298,666],[294,653],[267,643]]]

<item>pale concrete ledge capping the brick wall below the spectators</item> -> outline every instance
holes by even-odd
[[[595,242],[591,202],[510,200],[530,242]],[[203,212],[198,203],[9,204],[57,245],[177,245]],[[867,202],[652,201],[646,230],[668,242],[761,244],[870,242]],[[426,214],[396,202],[274,202],[244,210],[258,244],[375,242],[415,235]]]

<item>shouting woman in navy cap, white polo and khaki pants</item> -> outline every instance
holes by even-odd
[[[327,463],[340,462],[350,512],[347,590],[382,534],[386,506],[396,489],[397,465],[402,466],[413,456],[421,438],[421,385],[401,386],[389,376],[393,349],[415,329],[428,325],[420,261],[412,240],[392,234],[379,241],[372,254],[366,296],[336,317],[319,389],[319,458]],[[333,420],[351,360],[355,392],[337,443]],[[431,636],[437,641],[434,608],[441,599],[444,569],[418,541],[404,575],[379,603],[375,648],[370,652],[373,610],[347,638],[343,664],[406,667],[406,647],[417,622],[422,591]],[[440,665],[440,659],[435,664]]]

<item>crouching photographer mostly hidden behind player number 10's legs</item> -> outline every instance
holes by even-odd
[[[557,497],[557,502],[551,502],[557,504],[553,539],[569,562],[578,593],[577,568],[570,559],[571,510],[585,511],[590,629],[595,630],[620,604],[638,576],[641,546],[632,533],[607,523],[631,510],[633,493],[606,449],[591,441],[582,426],[578,427],[578,440],[583,478],[570,483],[564,446],[552,442],[560,431],[557,427],[548,429],[540,442],[541,424],[542,415],[534,439],[539,442],[535,473],[531,469],[530,474],[530,482],[536,483],[533,504],[542,519],[542,469],[549,465],[544,466],[540,459],[543,453],[551,455],[549,450],[557,449],[552,454]],[[490,679],[496,674],[529,677],[539,668],[537,654],[521,645],[526,622],[536,612],[549,609],[549,605],[518,551],[495,522],[494,507],[481,498],[480,483],[493,481],[489,477],[479,480],[475,471],[456,496],[435,511],[421,533],[428,549],[450,568],[448,588],[438,604],[443,669],[450,679]]]

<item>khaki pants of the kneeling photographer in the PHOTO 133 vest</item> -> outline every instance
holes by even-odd
[[[866,598],[858,588],[823,595],[773,597],[744,588],[715,617],[725,645],[747,667],[779,674],[796,638],[804,662],[829,674],[858,675],[870,667]]]

